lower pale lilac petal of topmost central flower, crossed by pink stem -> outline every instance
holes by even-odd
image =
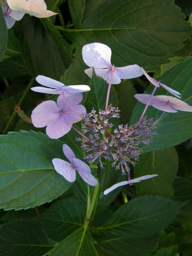
[[[93,74],[92,68],[85,69],[84,71],[89,77],[92,77],[92,74]],[[107,83],[109,83],[109,81],[111,79],[111,69],[110,68],[95,69],[95,74],[99,77],[102,77],[104,80],[107,81]],[[119,84],[119,83],[121,83],[121,79],[115,73],[113,73],[112,84]]]

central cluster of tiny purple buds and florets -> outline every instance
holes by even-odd
[[[85,114],[84,124],[82,125],[83,133],[87,138],[77,138],[82,141],[82,149],[87,152],[85,160],[93,163],[99,158],[100,167],[103,169],[102,158],[112,162],[112,167],[119,169],[122,173],[129,171],[128,163],[135,165],[139,160],[142,142],[149,145],[149,137],[156,134],[152,131],[155,126],[153,120],[143,118],[131,126],[119,125],[114,128],[110,122],[111,118],[119,118],[118,108],[109,106],[107,111],[99,110],[98,114],[93,109],[90,113]],[[87,135],[88,134],[88,135]],[[125,170],[124,170],[125,168]]]

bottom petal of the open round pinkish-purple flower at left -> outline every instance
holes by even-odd
[[[49,122],[46,128],[46,134],[51,139],[61,138],[63,135],[68,133],[72,128],[72,124],[68,124],[65,122],[65,118],[63,114],[57,116],[57,119],[53,122]]]

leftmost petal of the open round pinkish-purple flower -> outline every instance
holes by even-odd
[[[44,127],[54,122],[59,116],[59,107],[53,100],[47,100],[39,104],[31,114],[31,120],[35,127]]]

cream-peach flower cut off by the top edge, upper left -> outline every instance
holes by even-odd
[[[47,10],[44,0],[7,0],[7,3],[12,10],[27,13],[37,18],[45,18],[57,14]]]

